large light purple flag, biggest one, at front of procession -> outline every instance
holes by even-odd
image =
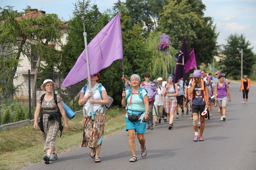
[[[88,44],[90,75],[109,67],[113,61],[123,58],[120,14],[118,13]],[[66,88],[88,78],[85,50],[62,83]]]

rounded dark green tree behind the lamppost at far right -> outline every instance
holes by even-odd
[[[230,34],[226,39],[227,44],[223,45],[223,56],[219,61],[222,72],[227,76],[238,80],[241,77],[241,52],[243,49],[243,74],[248,76],[252,73],[252,67],[256,62],[256,55],[249,48],[251,43],[246,41],[244,34]]]

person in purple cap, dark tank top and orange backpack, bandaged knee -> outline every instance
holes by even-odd
[[[202,115],[205,109],[209,107],[209,89],[205,81],[201,80],[201,70],[194,70],[194,80],[189,84],[188,95],[192,95],[192,115],[195,136],[193,141],[203,141],[204,119]],[[198,114],[200,114],[200,136],[198,137]]]

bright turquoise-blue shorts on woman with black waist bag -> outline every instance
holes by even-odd
[[[136,122],[132,122],[128,119],[128,117],[125,116],[126,121],[126,131],[129,129],[135,129],[135,132],[137,133],[146,133],[146,122],[141,123],[141,119],[137,120]]]

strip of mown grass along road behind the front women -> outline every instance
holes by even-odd
[[[107,111],[104,137],[123,132],[125,129],[125,109],[114,107]],[[76,115],[69,121],[69,131],[63,130],[61,139],[56,138],[58,154],[74,150],[82,142],[83,114]],[[0,132],[0,169],[17,170],[43,160],[44,142],[40,129],[35,130],[33,125],[22,128],[9,129]],[[22,156],[20,156],[22,155]],[[26,157],[26,159],[24,159]]]

